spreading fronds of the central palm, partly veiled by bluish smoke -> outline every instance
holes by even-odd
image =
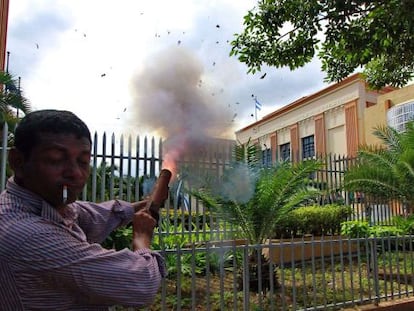
[[[262,243],[273,235],[286,213],[320,194],[309,185],[310,176],[321,165],[317,160],[307,160],[257,169],[236,163],[215,187],[193,191],[193,195],[211,213],[239,226],[250,243]]]

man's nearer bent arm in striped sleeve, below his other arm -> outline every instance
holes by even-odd
[[[44,279],[48,287],[40,291],[55,288],[85,305],[150,304],[165,275],[163,258],[148,248],[106,250],[65,228],[37,231],[14,257],[21,267],[17,277]]]

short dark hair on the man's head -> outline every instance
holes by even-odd
[[[92,144],[91,133],[86,124],[74,113],[66,110],[36,110],[28,113],[19,122],[14,133],[14,146],[29,156],[39,143],[41,133],[74,134],[87,138]]]

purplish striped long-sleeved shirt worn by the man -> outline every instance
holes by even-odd
[[[61,216],[9,179],[0,194],[0,310],[150,304],[165,275],[160,254],[98,244],[133,213],[124,201],[78,201]]]

